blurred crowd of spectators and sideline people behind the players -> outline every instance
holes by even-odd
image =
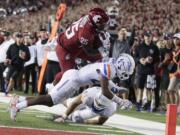
[[[120,53],[129,53],[136,61],[135,74],[119,84],[129,88],[129,94],[123,95],[123,98],[133,101],[137,111],[143,109],[149,112],[166,111],[167,103],[179,105],[180,2],[178,0],[0,1],[0,52],[7,51],[7,46],[11,44],[24,44],[31,48],[31,54],[34,53],[29,59],[31,62],[26,61],[24,70],[20,71],[19,81],[15,82],[13,89],[24,91],[26,94],[29,89],[32,89],[32,93],[37,92],[38,73],[48,50],[47,46],[42,46],[47,43],[54,14],[60,2],[66,2],[68,9],[59,32],[64,31],[82,16],[82,13],[86,14],[93,7],[100,6],[107,11],[110,17],[106,28],[110,33],[111,42],[109,57],[117,58]],[[6,47],[3,47],[4,45]],[[151,55],[152,51],[156,52],[155,55]],[[0,54],[1,73],[8,65],[8,61],[5,61],[2,55],[3,53]],[[141,59],[144,57],[147,59]],[[58,60],[49,60],[51,64],[58,66]],[[6,79],[3,74],[0,77],[1,91],[5,91],[2,84],[6,83]],[[51,81],[53,77],[47,78],[44,85]],[[31,87],[29,83],[32,84]]]

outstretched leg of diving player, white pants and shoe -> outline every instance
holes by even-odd
[[[18,102],[18,97],[14,96],[10,102],[10,114],[11,119],[15,120],[18,110],[33,105],[46,105],[53,106],[60,102],[63,102],[69,98],[75,90],[78,89],[77,70],[67,71],[61,81],[53,88],[52,92],[48,95],[42,95],[34,98],[22,99],[22,102]]]

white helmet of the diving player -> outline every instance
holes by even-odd
[[[135,62],[131,55],[122,53],[115,62],[117,69],[117,76],[121,80],[126,80],[133,74],[135,69]]]

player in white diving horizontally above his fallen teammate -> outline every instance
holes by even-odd
[[[84,66],[80,70],[70,69],[63,74],[61,81],[47,95],[22,98],[14,96],[10,101],[10,118],[16,120],[17,112],[33,105],[53,106],[62,103],[72,96],[74,92],[85,85],[99,83],[102,95],[118,104],[127,104],[127,101],[112,94],[109,90],[109,80],[119,77],[128,79],[133,74],[135,62],[132,56],[121,54],[117,60],[99,62]],[[129,102],[130,103],[130,102]]]

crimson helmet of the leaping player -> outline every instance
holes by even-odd
[[[109,17],[106,12],[101,8],[94,8],[89,11],[89,18],[93,25],[98,29],[104,29],[104,26],[107,24]]]

